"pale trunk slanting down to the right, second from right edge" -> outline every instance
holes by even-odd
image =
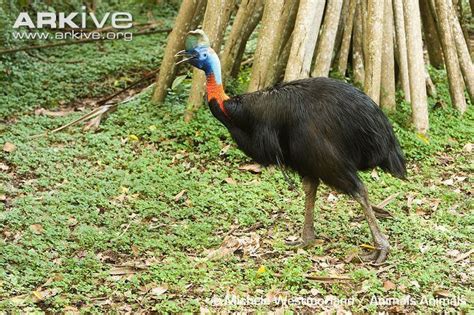
[[[440,27],[441,45],[443,47],[446,72],[448,73],[449,94],[451,101],[461,113],[466,110],[466,100],[464,99],[464,84],[459,69],[456,44],[453,39],[453,32],[449,20],[450,9],[446,0],[435,0],[438,23]]]

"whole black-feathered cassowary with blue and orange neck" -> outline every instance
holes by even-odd
[[[228,97],[219,58],[206,34],[190,32],[185,48],[176,55],[184,57],[178,63],[187,62],[205,72],[209,108],[238,147],[262,165],[288,167],[302,177],[303,244],[315,240],[313,210],[322,181],[361,204],[376,248],[365,258],[385,261],[389,243],[357,172],[379,166],[405,178],[406,168],[392,127],[378,106],[355,87],[323,77]]]

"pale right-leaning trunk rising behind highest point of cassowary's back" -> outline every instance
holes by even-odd
[[[334,40],[341,16],[342,0],[329,0],[324,14],[324,21],[319,37],[312,77],[327,77],[331,68],[334,52]]]

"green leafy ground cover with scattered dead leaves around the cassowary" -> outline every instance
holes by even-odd
[[[41,52],[53,66],[4,61],[0,310],[472,310],[474,111],[450,109],[442,72],[429,138],[410,129],[407,104],[390,116],[408,180],[361,174],[394,214],[381,222],[392,245],[382,266],[357,258],[371,244],[359,206],[324,185],[316,245],[287,245],[302,227],[301,187],[245,157],[205,106],[184,123],[189,78],[161,106],[151,90],[120,105],[98,132],[31,138],[158,67],[165,37]]]

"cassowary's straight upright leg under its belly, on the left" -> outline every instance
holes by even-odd
[[[314,202],[316,199],[316,190],[318,189],[319,181],[309,177],[303,178],[303,189],[305,192],[304,204],[304,225],[301,238],[303,245],[311,245],[316,239],[314,235]]]

